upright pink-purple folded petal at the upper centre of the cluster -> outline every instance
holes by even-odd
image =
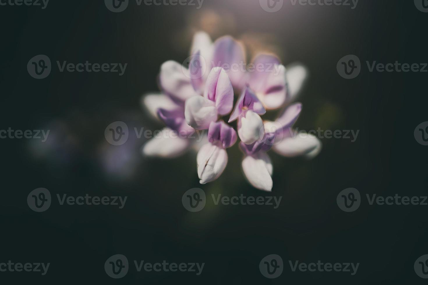
[[[204,97],[215,102],[217,112],[224,116],[232,111],[233,88],[229,77],[222,68],[211,69],[205,85]]]

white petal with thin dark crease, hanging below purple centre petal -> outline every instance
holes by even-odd
[[[205,184],[217,179],[227,164],[227,153],[216,144],[205,144],[196,156],[199,182]]]

